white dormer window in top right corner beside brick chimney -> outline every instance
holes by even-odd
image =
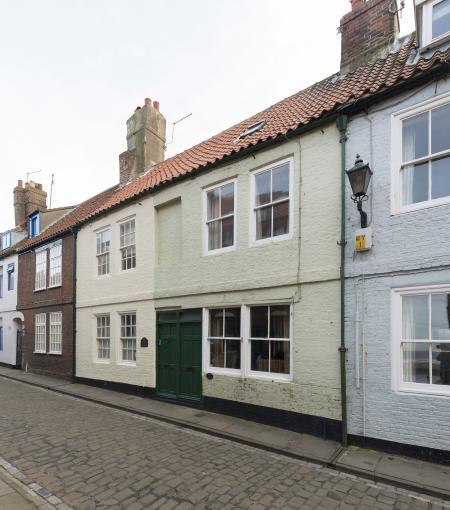
[[[416,0],[421,48],[450,41],[450,0]]]

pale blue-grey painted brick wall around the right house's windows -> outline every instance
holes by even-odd
[[[353,252],[359,215],[347,186],[346,339],[349,431],[388,441],[450,449],[450,398],[392,389],[391,290],[450,282],[449,205],[391,215],[391,114],[450,91],[441,80],[377,105],[349,125],[347,168],[356,153],[374,172],[366,202],[373,249]],[[450,100],[450,96],[449,96]],[[393,174],[394,175],[394,174]]]

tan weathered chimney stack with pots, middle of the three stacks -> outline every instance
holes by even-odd
[[[127,120],[127,150],[119,155],[120,184],[136,179],[164,160],[166,119],[148,97]]]

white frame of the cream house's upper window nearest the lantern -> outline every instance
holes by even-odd
[[[255,177],[258,174],[266,172],[267,170],[274,169],[278,166],[282,166],[284,164],[289,164],[289,232],[287,234],[283,234],[280,236],[272,236],[267,237],[265,239],[256,239],[256,209],[267,207],[269,204],[264,204],[263,206],[256,206],[256,185],[255,185]],[[252,170],[250,172],[250,246],[260,246],[267,243],[274,243],[278,241],[286,241],[288,239],[292,239],[293,230],[294,230],[294,158],[291,156],[289,158],[284,158],[279,161],[275,161],[270,163],[269,165],[265,165],[262,168],[258,168],[257,170]],[[286,199],[280,200],[279,202],[286,201]],[[278,202],[270,202],[270,204],[276,204]],[[272,216],[273,222],[273,216]]]

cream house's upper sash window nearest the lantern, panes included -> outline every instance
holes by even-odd
[[[252,174],[253,241],[284,239],[292,232],[292,160]]]

